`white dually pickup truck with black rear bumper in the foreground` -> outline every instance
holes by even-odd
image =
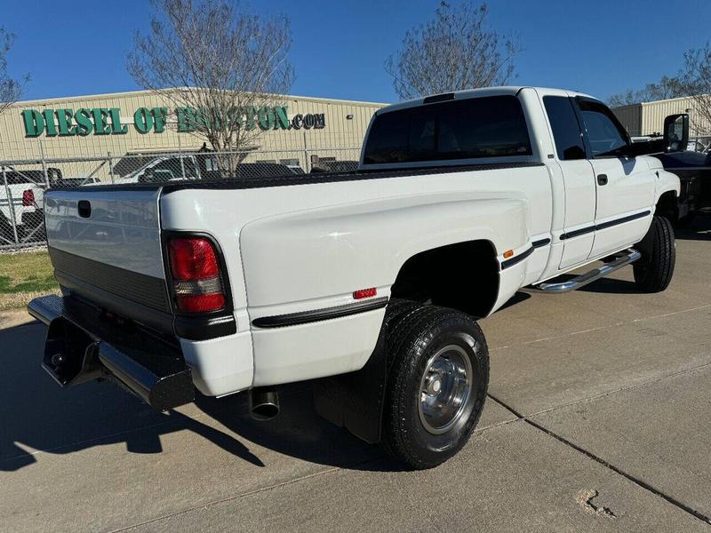
[[[439,465],[483,409],[477,319],[629,264],[667,288],[679,179],[639,154],[597,99],[503,87],[380,109],[353,172],[52,190],[44,369],[157,410],[244,391],[256,418],[316,380],[319,414]]]

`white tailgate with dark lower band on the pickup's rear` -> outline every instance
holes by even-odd
[[[109,309],[112,298],[118,298],[116,306],[126,300],[133,307],[138,304],[170,314],[160,192],[160,187],[130,186],[48,192],[44,198],[47,241],[60,284]],[[121,311],[139,320],[137,315],[145,314],[124,305]],[[165,324],[167,318],[160,322]]]

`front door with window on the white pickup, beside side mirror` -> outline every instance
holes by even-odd
[[[645,161],[626,155],[629,137],[611,110],[594,99],[576,100],[595,172],[597,207],[591,256],[599,257],[643,237],[657,184]]]

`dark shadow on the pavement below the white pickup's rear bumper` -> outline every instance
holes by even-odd
[[[0,472],[41,461],[35,450],[63,455],[125,442],[132,453],[160,453],[162,435],[184,430],[256,466],[265,465],[259,457],[264,451],[250,449],[252,442],[318,464],[401,469],[394,462],[372,462],[382,456],[378,447],[319,418],[311,404],[310,384],[285,386],[282,412],[267,422],[249,416],[245,394],[222,399],[199,396],[197,410],[188,406],[191,413],[204,413],[219,423],[215,424],[177,411],[158,413],[110,383],[62,389],[40,367],[44,334],[44,325],[37,322],[0,330]],[[237,437],[219,429],[220,424]],[[243,443],[240,437],[251,442]]]

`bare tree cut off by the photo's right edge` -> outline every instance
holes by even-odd
[[[711,42],[683,54],[683,84],[692,100],[691,120],[698,135],[711,133]]]

